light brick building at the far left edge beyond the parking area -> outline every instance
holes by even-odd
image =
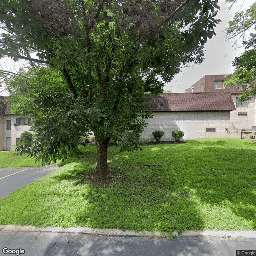
[[[10,105],[0,96],[0,150],[15,150],[20,134],[30,130],[30,118],[11,114]]]

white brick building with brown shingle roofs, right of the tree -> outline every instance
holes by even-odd
[[[188,88],[188,93],[151,96],[144,105],[154,118],[147,120],[141,139],[152,140],[153,130],[164,131],[161,140],[174,140],[172,130],[182,130],[184,140],[240,138],[242,130],[250,132],[256,125],[255,96],[239,102],[239,90],[244,86],[225,87],[228,78],[224,76],[204,76]],[[254,132],[250,135],[256,136]]]

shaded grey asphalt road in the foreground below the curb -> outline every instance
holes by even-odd
[[[1,231],[0,245],[0,255],[10,255],[4,254],[3,248],[21,248],[25,253],[20,255],[24,256],[236,256],[236,250],[256,250],[256,239],[190,236],[168,240],[81,233]]]

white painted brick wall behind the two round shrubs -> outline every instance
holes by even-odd
[[[230,112],[154,112],[147,120],[148,126],[141,134],[143,140],[154,140],[152,132],[163,130],[164,140],[174,140],[172,130],[182,130],[184,140],[203,138],[240,138],[240,131],[230,122]],[[206,128],[216,128],[216,132],[206,132]],[[225,128],[228,128],[228,133]]]

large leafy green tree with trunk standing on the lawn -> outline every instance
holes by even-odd
[[[92,130],[96,170],[105,174],[110,138],[121,150],[139,148],[140,132],[150,116],[143,106],[145,93],[162,92],[164,84],[156,77],[169,82],[181,64],[202,62],[203,46],[219,22],[217,4],[2,0],[0,58],[51,66],[62,73],[70,92],[57,90],[51,98],[49,116],[42,114],[41,127],[34,126],[38,143],[31,154],[44,163],[62,159],[76,151],[77,138]]]

